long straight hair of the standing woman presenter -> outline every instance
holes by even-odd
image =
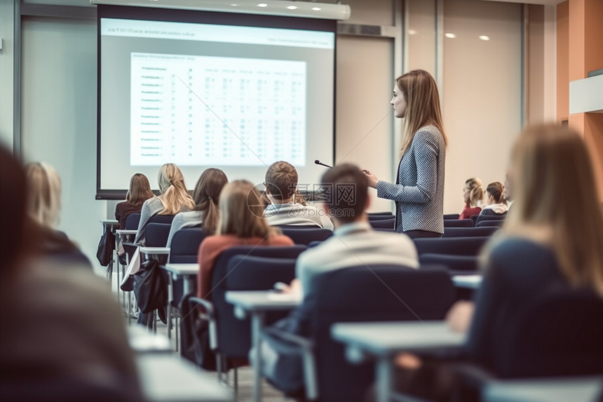
[[[400,156],[410,146],[414,134],[424,126],[435,126],[442,133],[444,143],[448,140],[442,123],[442,109],[440,108],[440,94],[438,84],[433,76],[423,69],[414,69],[395,79],[395,83],[402,91],[406,100],[406,112],[404,114],[404,137]]]

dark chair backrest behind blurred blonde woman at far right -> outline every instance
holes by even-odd
[[[499,327],[494,370],[501,377],[603,373],[603,298],[593,292],[551,290]]]

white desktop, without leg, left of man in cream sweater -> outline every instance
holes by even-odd
[[[299,305],[302,296],[273,290],[236,290],[226,292],[226,302],[247,311],[287,310]]]

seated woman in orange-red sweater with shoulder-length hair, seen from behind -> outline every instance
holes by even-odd
[[[199,246],[197,293],[210,298],[212,270],[223,250],[233,246],[293,246],[293,241],[268,225],[264,203],[252,183],[230,182],[222,189],[219,200],[220,219],[216,236],[208,236]]]

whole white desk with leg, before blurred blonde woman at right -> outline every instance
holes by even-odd
[[[331,336],[347,345],[348,361],[362,361],[365,354],[377,357],[375,378],[379,402],[390,401],[393,356],[402,351],[458,348],[466,337],[452,332],[444,321],[335,323]]]

